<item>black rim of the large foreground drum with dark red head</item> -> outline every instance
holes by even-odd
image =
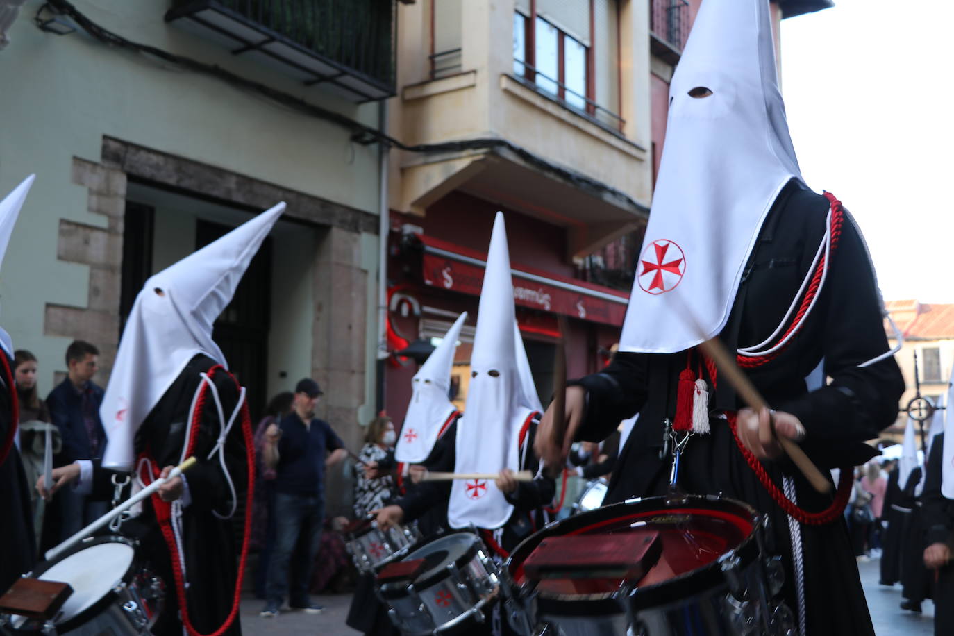
[[[566,529],[567,527],[570,527],[570,530],[575,530],[587,527],[592,525],[592,523],[597,520],[612,520],[622,516],[613,514],[613,512],[625,510],[637,505],[648,506],[652,505],[653,503],[666,503],[663,508],[657,508],[659,512],[664,512],[665,508],[692,506],[709,507],[713,510],[725,511],[725,504],[729,504],[729,506],[736,506],[745,512],[745,518],[751,520],[752,522],[752,530],[748,535],[745,536],[745,538],[742,539],[741,542],[739,542],[739,544],[720,554],[715,561],[701,565],[687,572],[683,572],[671,579],[667,579],[666,581],[657,583],[655,585],[636,587],[632,591],[626,593],[625,597],[622,593],[622,590],[614,590],[612,592],[600,594],[570,595],[537,592],[534,588],[532,594],[534,595],[537,604],[544,606],[550,604],[563,604],[563,609],[566,610],[570,606],[567,604],[572,604],[576,607],[593,604],[603,605],[608,601],[618,604],[622,602],[624,598],[626,598],[626,602],[629,603],[634,610],[655,607],[658,605],[666,605],[670,602],[673,602],[674,599],[692,597],[699,592],[714,589],[717,583],[724,581],[721,571],[721,564],[730,556],[738,557],[740,560],[740,566],[743,568],[748,564],[751,564],[757,558],[759,552],[757,533],[762,526],[762,521],[761,516],[753,506],[749,505],[748,503],[740,502],[736,499],[723,497],[720,495],[686,495],[676,503],[668,502],[669,498],[667,497],[646,497],[631,499],[625,502],[612,503],[610,505],[602,506],[596,508],[595,510],[580,513],[558,522],[548,523],[539,532],[535,532],[518,544],[510,553],[510,556],[505,562],[501,573],[504,578],[505,585],[507,585],[510,590],[513,590],[514,595],[523,595],[522,592],[520,592],[521,586],[517,584],[516,579],[512,574],[513,569],[518,566],[518,564],[514,563],[514,558],[521,556],[519,564],[523,564],[523,562],[529,556],[529,553],[532,552],[536,545],[543,541],[543,539],[551,536],[569,534],[569,532],[555,533],[554,530],[557,528],[563,527]],[[526,554],[523,554],[524,552],[526,552]],[[621,610],[622,606],[623,605],[620,605]]]

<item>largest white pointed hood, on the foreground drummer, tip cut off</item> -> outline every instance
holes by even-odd
[[[692,96],[702,89],[712,93]],[[762,222],[793,177],[801,175],[778,92],[769,1],[705,0],[670,85],[620,349],[674,353],[716,336]]]

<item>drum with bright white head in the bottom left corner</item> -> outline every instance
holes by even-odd
[[[165,585],[138,563],[135,542],[125,537],[87,539],[39,564],[29,576],[73,587],[52,620],[58,634],[149,634],[165,603]],[[44,628],[22,616],[12,617],[10,627],[16,633]]]

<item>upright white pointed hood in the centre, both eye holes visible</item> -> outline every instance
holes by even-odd
[[[497,473],[520,469],[520,429],[533,412],[516,355],[513,278],[504,215],[497,213],[487,251],[477,329],[470,357],[471,378],[464,416],[457,423],[456,472]],[[460,481],[450,486],[447,521],[497,528],[513,506],[493,480]]]

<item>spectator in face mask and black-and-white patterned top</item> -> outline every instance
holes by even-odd
[[[361,518],[372,510],[383,508],[395,494],[394,442],[397,433],[394,422],[380,415],[367,426],[364,446],[358,454],[363,463],[355,464],[355,516]]]

